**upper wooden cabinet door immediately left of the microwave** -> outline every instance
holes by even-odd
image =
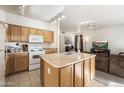
[[[21,41],[28,42],[29,40],[29,28],[21,27]]]

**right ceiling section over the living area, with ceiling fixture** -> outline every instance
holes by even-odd
[[[66,20],[62,21],[63,31],[76,31],[80,22],[93,21],[95,29],[124,25],[123,6],[82,5],[65,6],[63,11]],[[89,29],[88,26],[81,26]]]

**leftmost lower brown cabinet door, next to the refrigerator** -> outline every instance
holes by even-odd
[[[15,58],[14,54],[8,54],[7,55],[7,61],[6,61],[6,75],[13,74],[15,72]]]

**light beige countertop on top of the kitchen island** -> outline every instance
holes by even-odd
[[[78,63],[80,61],[95,57],[94,54],[88,53],[74,53],[74,54],[64,54],[64,53],[53,53],[53,54],[45,54],[40,55],[40,57],[49,63],[50,65],[54,66],[55,68],[62,68],[71,64]]]

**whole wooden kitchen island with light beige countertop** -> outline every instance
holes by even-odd
[[[95,78],[94,54],[45,54],[40,64],[43,87],[85,87]]]

